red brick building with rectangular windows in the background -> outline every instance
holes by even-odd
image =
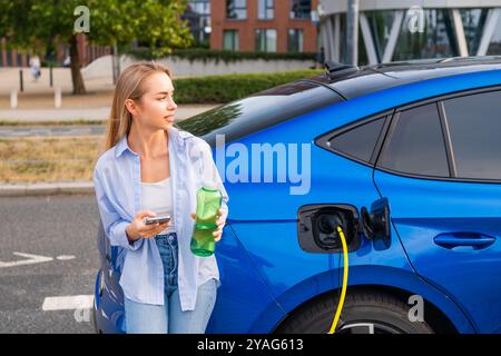
[[[316,52],[318,0],[212,0],[210,49]]]

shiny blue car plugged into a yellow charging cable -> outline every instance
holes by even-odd
[[[501,333],[501,57],[326,72],[179,123],[230,197],[207,333]],[[124,332],[98,235],[95,320]]]

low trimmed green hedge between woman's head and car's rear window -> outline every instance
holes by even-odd
[[[323,70],[296,70],[259,75],[226,75],[174,79],[177,103],[226,103]]]

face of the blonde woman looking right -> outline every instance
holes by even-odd
[[[145,82],[145,95],[136,102],[132,115],[140,125],[151,129],[168,129],[174,123],[177,105],[174,102],[174,86],[164,72],[157,72]]]

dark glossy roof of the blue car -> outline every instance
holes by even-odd
[[[341,67],[340,68],[345,68]],[[350,100],[371,92],[449,76],[501,69],[501,56],[421,59],[364,66],[308,78]]]

